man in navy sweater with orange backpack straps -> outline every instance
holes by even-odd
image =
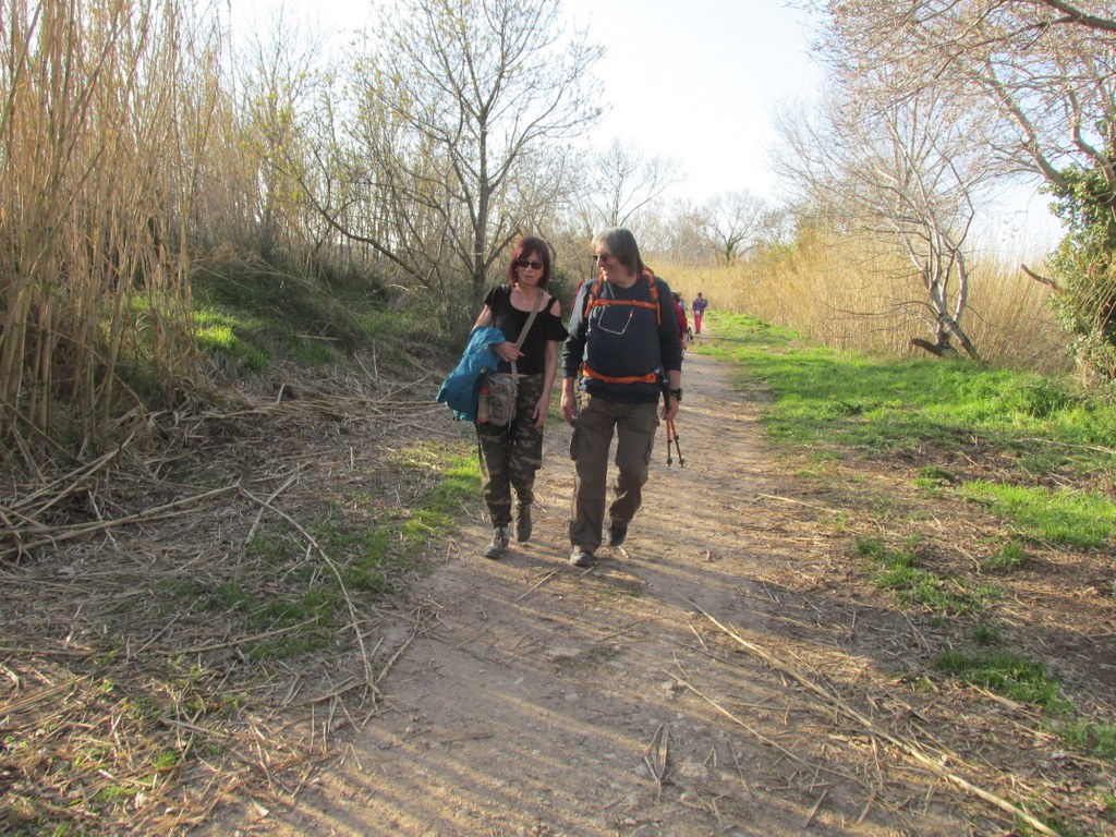
[[[578,294],[561,356],[561,414],[574,425],[569,560],[575,567],[593,566],[602,542],[613,433],[617,475],[608,546],[618,547],[643,503],[663,375],[664,420],[677,415],[682,400],[682,344],[670,286],[643,263],[628,230],[602,232],[593,249],[599,276]]]

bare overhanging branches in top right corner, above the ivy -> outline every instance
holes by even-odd
[[[1010,167],[1068,185],[1096,166],[1116,192],[1112,0],[818,0],[845,80],[888,68],[892,100],[933,88],[999,123],[973,137]]]

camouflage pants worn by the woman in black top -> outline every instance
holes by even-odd
[[[542,464],[542,430],[535,426],[535,405],[542,395],[542,375],[519,379],[516,419],[507,427],[477,425],[484,502],[492,526],[511,525],[511,492],[520,506],[535,502],[535,474]]]

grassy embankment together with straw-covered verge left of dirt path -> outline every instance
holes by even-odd
[[[213,377],[250,404],[153,417],[165,450],[58,481],[92,522],[33,510],[88,536],[6,554],[4,834],[179,834],[219,800],[288,796],[374,708],[379,614],[480,500],[472,445],[407,426],[431,410],[413,383],[452,358],[430,318],[246,266],[201,275],[194,299]],[[277,382],[299,396],[279,403]],[[185,522],[112,527],[171,501]]]

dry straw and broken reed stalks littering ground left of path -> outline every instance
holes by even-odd
[[[304,523],[354,487],[383,500],[378,513],[406,516],[430,475],[394,456],[446,430],[444,407],[415,397],[432,375],[339,373],[192,419],[144,416],[147,433],[88,463],[9,481],[0,830],[181,834],[229,799],[289,802],[338,730],[377,711],[400,650],[381,648],[382,614],[341,581],[347,557]],[[262,528],[301,547],[253,558]],[[250,614],[203,602],[240,590],[266,605],[323,575],[343,614],[312,657],[251,650],[297,642],[315,618],[253,633]]]

